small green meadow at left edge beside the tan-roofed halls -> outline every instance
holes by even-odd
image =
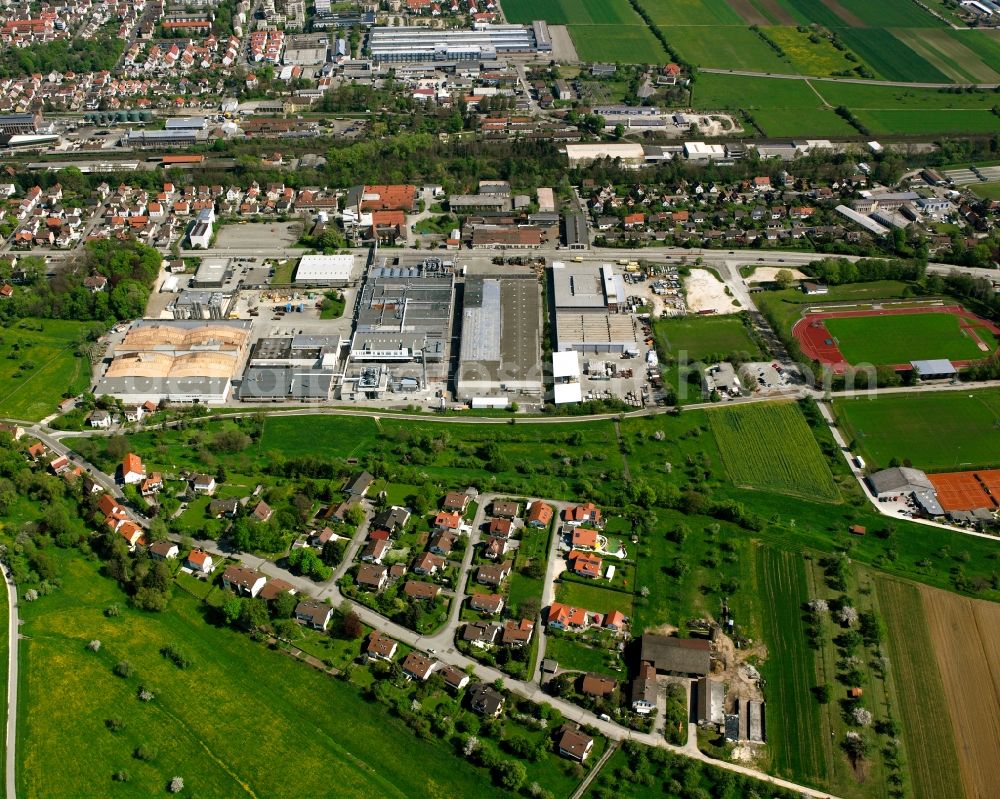
[[[0,326],[0,416],[38,421],[55,412],[64,393],[90,386],[90,362],[76,357],[88,327],[59,319]]]

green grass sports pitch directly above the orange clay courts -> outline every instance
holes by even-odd
[[[834,410],[871,469],[893,458],[925,471],[1000,466],[1000,392],[845,398]]]

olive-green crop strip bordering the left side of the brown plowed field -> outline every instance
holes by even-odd
[[[950,796],[962,778],[920,591],[886,578],[875,585],[888,628],[895,706],[903,723],[913,796]]]

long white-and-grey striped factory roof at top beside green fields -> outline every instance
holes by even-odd
[[[373,61],[495,61],[501,53],[552,49],[548,25],[482,25],[476,28],[372,28]]]

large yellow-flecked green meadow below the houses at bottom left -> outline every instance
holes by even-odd
[[[175,775],[186,796],[226,799],[328,796],[331,786],[338,797],[504,795],[356,687],[206,623],[195,600],[175,592],[164,613],[133,611],[94,564],[62,560],[62,588],[22,607],[19,796],[162,796]],[[104,615],[112,603],[117,618]],[[98,653],[86,648],[93,639]],[[168,643],[193,667],[162,657]],[[120,660],[136,676],[115,676]],[[139,685],[152,702],[136,698]],[[133,756],[141,745],[155,747],[152,760]],[[112,782],[119,770],[131,780]]]

